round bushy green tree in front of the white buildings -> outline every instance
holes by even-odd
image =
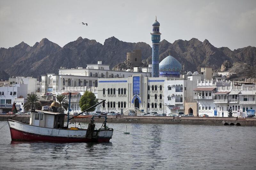
[[[96,99],[96,96],[89,91],[85,91],[83,96],[80,98],[79,106],[81,108],[81,111],[84,111],[93,105],[96,105],[98,103],[98,99]],[[87,112],[92,112],[95,110],[95,107],[91,108]]]

